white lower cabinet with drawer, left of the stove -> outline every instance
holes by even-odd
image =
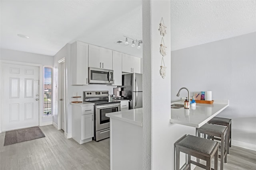
[[[94,137],[94,104],[72,105],[72,138],[79,144]]]

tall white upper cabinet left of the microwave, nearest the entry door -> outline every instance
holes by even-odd
[[[88,44],[72,43],[72,85],[88,84]]]

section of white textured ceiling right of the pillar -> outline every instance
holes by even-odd
[[[255,0],[171,2],[172,51],[256,32]]]

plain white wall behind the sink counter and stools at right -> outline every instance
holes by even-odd
[[[172,102],[183,86],[190,92],[210,90],[213,100],[228,99],[229,107],[218,116],[232,119],[232,145],[255,150],[256,32],[171,54]]]

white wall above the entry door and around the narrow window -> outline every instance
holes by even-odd
[[[10,49],[1,49],[0,57],[1,57],[0,58],[1,60],[41,64],[42,72],[40,74],[43,73],[44,66],[52,66],[52,64],[53,64],[52,56],[35,54],[35,53],[27,53],[27,52],[23,52],[23,51],[15,51],[15,50],[10,50]],[[43,77],[42,77],[41,82],[43,82]],[[41,123],[42,123],[41,125],[52,124],[52,117],[44,117],[44,118],[41,117]]]

